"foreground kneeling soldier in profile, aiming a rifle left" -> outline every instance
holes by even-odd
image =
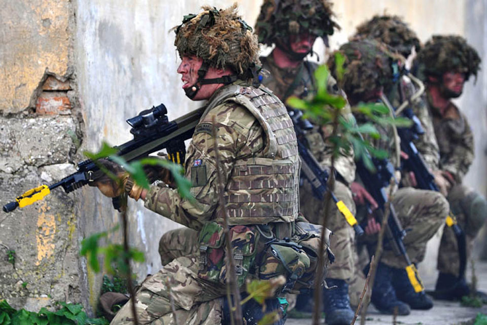
[[[253,259],[261,252],[267,256],[256,238],[264,233],[279,241],[293,235],[300,163],[286,108],[255,79],[251,83],[257,77],[258,44],[251,28],[237,15],[236,5],[226,10],[203,7],[198,15],[185,16],[175,31],[183,89],[193,101],[208,100],[185,161],[194,200],[182,198],[164,183],[142,189],[129,177],[124,177],[123,189],[131,198],[144,200],[146,208],[191,228],[189,235],[197,236],[200,247],[206,249],[173,259],[146,279],[133,299],[138,319],[145,324],[173,323],[172,308],[180,322],[215,324],[221,321],[222,310],[222,300],[217,298],[226,294],[223,241],[231,240],[235,255],[246,252],[236,258],[240,286],[256,273],[262,276],[269,271]],[[231,239],[222,234],[214,131]],[[95,185],[108,196],[122,190],[111,181]],[[293,260],[298,261],[296,265],[286,266],[296,274],[306,264],[301,255]],[[132,323],[130,308],[126,304],[112,324]]]

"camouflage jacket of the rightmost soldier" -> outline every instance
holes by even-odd
[[[439,169],[451,173],[461,183],[474,158],[473,133],[467,117],[451,102],[445,116],[441,116],[430,99],[428,104],[439,146]]]

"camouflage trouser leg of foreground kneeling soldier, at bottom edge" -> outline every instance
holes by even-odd
[[[135,294],[135,310],[141,324],[219,324],[225,292],[198,278],[197,255],[182,256],[146,279]],[[131,301],[111,324],[133,324]]]

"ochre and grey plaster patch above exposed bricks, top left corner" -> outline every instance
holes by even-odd
[[[47,70],[68,68],[69,1],[0,1],[0,111],[25,109]]]

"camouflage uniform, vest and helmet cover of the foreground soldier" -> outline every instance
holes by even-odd
[[[176,30],[176,45],[181,55],[191,51],[184,49],[188,44],[182,45],[180,42],[187,40],[180,36],[191,38],[192,28],[196,27],[198,31],[206,27],[204,21],[210,24],[210,32],[213,31],[212,26],[217,26],[230,34],[243,32],[246,37],[251,37],[250,31],[242,28],[247,25],[234,12],[235,6],[223,12],[207,7],[203,10],[197,16],[185,16],[183,24]],[[208,36],[207,31],[205,36]],[[192,40],[190,46],[201,50],[196,44],[198,37]],[[217,44],[219,41],[215,40]],[[217,48],[222,49],[220,45]],[[208,46],[201,52],[205,49],[208,50]],[[241,52],[238,47],[231,49]],[[205,54],[201,53],[201,56]],[[252,60],[255,62],[258,58],[250,57]],[[248,61],[243,61],[247,62],[247,66],[241,60],[238,62],[240,65],[234,67],[237,71],[246,71],[250,65]],[[220,63],[224,64],[218,62],[214,66],[219,67]],[[276,235],[277,238],[290,237],[291,225],[298,215],[300,171],[292,121],[282,102],[271,91],[263,86],[251,86],[240,79],[219,88],[213,94],[195,128],[185,160],[185,177],[192,181],[191,194],[194,200],[182,198],[176,189],[162,183],[150,188],[145,198],[145,207],[188,226],[192,231],[187,232],[193,235],[197,232],[200,240],[210,235],[201,234],[200,230],[207,229],[204,227],[208,224],[215,224],[208,222],[222,222],[223,207],[218,203],[213,131],[216,132],[220,172],[226,189],[224,197],[228,222],[235,225],[231,231],[243,227],[239,225],[269,224],[273,226],[274,234],[277,230],[282,231]],[[180,230],[175,234],[178,232],[181,234]],[[223,238],[222,233],[214,235]],[[242,242],[240,238],[236,239],[232,240],[235,247]],[[210,281],[202,278],[199,272],[201,266],[206,265],[206,261],[213,261],[213,256],[205,255],[207,258],[203,261],[200,251],[194,252],[191,247],[194,247],[193,244],[188,242],[188,250],[173,251],[174,256],[186,252],[191,254],[173,259],[149,277],[137,291],[134,299],[141,323],[174,323],[172,308],[176,309],[178,318],[190,323],[220,323],[222,300],[218,298],[226,294],[226,285],[223,284],[225,279]],[[257,248],[254,246],[254,249]],[[166,254],[165,257],[164,262],[167,262],[170,256]],[[247,270],[251,267],[248,266]],[[225,272],[221,274],[225,275]],[[247,278],[251,277],[255,275],[249,273]],[[199,305],[201,303],[204,304]],[[112,324],[129,324],[131,318],[130,303],[127,303],[117,313]]]

